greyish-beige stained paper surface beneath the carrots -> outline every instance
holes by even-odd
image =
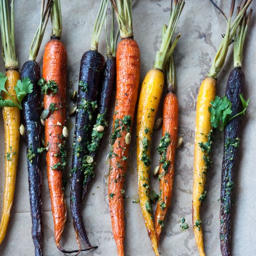
[[[161,27],[167,23],[170,10],[170,0],[134,0],[133,13],[134,35],[141,50],[141,80],[146,72],[152,67],[155,60],[155,51],[161,43]],[[230,0],[221,1],[221,7],[229,13]],[[238,2],[238,1],[237,1]],[[70,79],[77,88],[79,67],[82,54],[89,49],[94,20],[100,0],[61,0],[63,33],[62,41],[67,47],[68,54],[68,80]],[[253,2],[255,8],[255,2]],[[256,8],[255,8],[256,9]],[[40,0],[15,0],[15,34],[16,49],[20,67],[27,61],[29,47],[39,22]],[[235,256],[253,256],[256,253],[255,243],[255,212],[256,204],[256,178],[255,178],[255,135],[256,135],[256,67],[255,67],[255,40],[256,27],[255,15],[249,28],[243,69],[246,75],[245,98],[250,97],[250,106],[246,116],[243,118],[243,137],[240,148],[241,161],[239,171],[236,175],[234,215],[233,215],[233,252]],[[216,49],[225,33],[225,20],[216,11],[209,0],[187,0],[181,15],[176,32],[180,32],[178,45],[175,49],[175,63],[178,80],[177,95],[180,103],[179,135],[183,137],[184,143],[177,150],[176,169],[174,180],[174,193],[172,204],[165,221],[162,232],[160,252],[162,256],[192,256],[198,255],[191,224],[192,184],[193,184],[193,151],[194,151],[194,127],[195,127],[195,105],[200,82],[207,74],[210,63],[213,60]],[[100,39],[99,51],[105,53],[104,34]],[[48,24],[45,38],[37,58],[42,64],[43,48],[50,36],[50,24]],[[230,47],[232,49],[232,47]],[[218,77],[217,92],[223,95],[229,71],[233,67],[231,49],[228,61]],[[0,58],[0,70],[4,72],[4,63]],[[68,81],[67,81],[68,84]],[[67,87],[68,88],[68,87]],[[69,93],[69,88],[67,89]],[[113,94],[113,101],[115,94]],[[112,105],[113,106],[113,105]],[[162,107],[160,107],[161,110]],[[161,115],[159,111],[158,115]],[[74,117],[71,118],[74,123]],[[111,115],[109,118],[111,123]],[[74,129],[70,131],[69,141],[72,143]],[[83,216],[88,237],[92,244],[99,248],[83,252],[81,255],[92,256],[114,256],[116,255],[115,241],[112,236],[110,216],[108,210],[108,192],[106,186],[106,173],[108,165],[104,160],[108,154],[108,128],[104,138],[104,144],[99,153],[99,161],[96,167],[96,177],[91,183],[87,199],[83,205]],[[154,152],[153,167],[158,161],[156,145],[158,144],[161,131],[155,133],[152,152]],[[214,136],[213,162],[207,181],[207,199],[202,207],[202,226],[204,230],[204,244],[207,255],[219,256],[219,208],[220,208],[220,182],[221,162],[223,149],[223,135],[216,133]],[[134,147],[135,136],[133,134],[132,147]],[[69,143],[69,150],[70,150]],[[0,210],[3,197],[4,182],[4,131],[2,115],[0,116]],[[15,200],[11,213],[11,221],[7,236],[0,245],[1,256],[27,256],[34,254],[34,245],[31,239],[31,217],[29,209],[29,195],[27,182],[27,165],[25,139],[20,141],[20,160],[17,172]],[[43,156],[44,157],[44,156]],[[133,168],[128,169],[125,185],[126,195],[126,237],[125,251],[127,256],[153,256],[150,240],[143,222],[140,205],[133,203],[137,198],[137,174],[135,151],[130,157]],[[45,161],[42,161],[43,173],[43,209],[44,209],[44,254],[46,256],[62,255],[54,243],[53,218]],[[65,176],[68,185],[65,191],[67,200],[67,224],[64,230],[61,244],[65,249],[77,248],[72,217],[69,203],[69,173],[68,166]],[[151,179],[152,187],[158,190],[158,181]],[[99,188],[96,188],[99,187]],[[180,218],[184,216],[189,224],[189,229],[182,232]],[[84,247],[84,245],[83,245]]]

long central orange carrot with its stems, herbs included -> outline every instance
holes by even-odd
[[[116,97],[109,153],[108,195],[113,236],[119,256],[124,255],[124,179],[132,121],[140,82],[140,50],[133,39],[132,0],[111,0],[120,28],[116,52]]]

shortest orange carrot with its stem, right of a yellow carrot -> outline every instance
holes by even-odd
[[[164,218],[171,204],[174,179],[175,150],[178,135],[179,104],[175,94],[176,80],[173,56],[167,65],[167,94],[163,102],[162,139],[158,153],[161,155],[159,166],[159,200],[155,211],[155,235],[160,240]]]

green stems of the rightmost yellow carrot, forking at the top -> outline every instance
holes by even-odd
[[[213,0],[211,0],[211,2],[214,3]],[[234,35],[236,34],[236,30],[237,30],[241,20],[243,19],[243,16],[245,15],[246,10],[249,7],[251,2],[252,2],[252,0],[246,0],[243,2],[244,3],[243,8],[241,8],[241,10],[239,11],[239,13],[236,16],[236,19],[233,21],[232,24],[231,24],[231,17],[233,16],[233,13],[234,13],[235,0],[232,0],[232,3],[231,3],[229,19],[227,19],[226,15],[221,11],[221,13],[224,15],[225,19],[228,22],[228,27],[227,27],[226,34],[222,40],[220,48],[215,56],[215,59],[212,63],[212,66],[209,70],[207,77],[211,77],[214,79],[217,78],[218,73],[220,72],[220,70],[222,69],[222,67],[224,65],[225,58],[228,53],[229,45],[232,42],[232,39],[233,39]],[[215,3],[214,3],[214,6],[217,7],[217,5]],[[217,7],[217,9],[220,10],[219,7]]]

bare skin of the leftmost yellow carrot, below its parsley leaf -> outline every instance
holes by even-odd
[[[5,88],[12,97],[17,100],[14,87],[20,79],[20,73],[15,69],[9,69],[6,72],[7,81]],[[10,99],[9,96],[3,94],[4,99]],[[15,179],[19,157],[20,144],[20,109],[19,108],[3,108],[4,129],[5,129],[5,186],[2,216],[0,222],[0,243],[5,238],[8,223],[10,220],[11,209],[13,206]],[[7,160],[7,153],[11,154],[11,160]]]

